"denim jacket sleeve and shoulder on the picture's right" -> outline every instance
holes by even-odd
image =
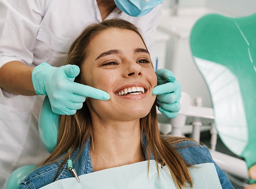
[[[189,165],[200,163],[214,163],[222,189],[234,189],[228,176],[213,161],[207,146],[199,145],[193,141],[183,141],[177,144],[176,149]]]

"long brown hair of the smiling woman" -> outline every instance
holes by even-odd
[[[83,32],[75,39],[72,46],[70,47],[66,64],[75,64],[81,68],[82,63],[87,57],[87,48],[91,42],[91,39],[96,34],[109,28],[132,30],[140,36],[143,43],[145,44],[139,29],[133,24],[122,19],[105,20],[101,23],[87,26]],[[76,77],[75,82],[83,83],[81,76],[82,72],[78,77]],[[189,165],[184,162],[181,155],[174,148],[174,144],[179,140],[183,140],[183,138],[169,137],[166,139],[161,137],[158,129],[155,104],[153,105],[148,115],[140,119],[140,127],[143,133],[145,133],[147,139],[147,158],[150,159],[152,154],[157,163],[167,165],[178,189],[186,186],[187,183],[189,183],[189,185],[192,187],[192,178],[188,171]],[[60,171],[61,167],[67,161],[69,155],[75,148],[79,148],[79,155],[82,153],[82,147],[85,145],[89,137],[92,137],[91,116],[86,103],[83,103],[82,109],[77,110],[74,115],[61,116],[57,146],[54,152],[43,163],[43,165],[53,163],[59,161],[61,158],[64,158],[64,161],[59,168]],[[66,153],[67,151],[68,153]],[[57,157],[60,158],[57,159]]]

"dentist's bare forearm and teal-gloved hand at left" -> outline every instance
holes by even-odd
[[[44,62],[31,69],[21,64],[10,62],[0,69],[0,86],[15,94],[48,95],[52,111],[56,114],[74,114],[82,108],[86,97],[110,99],[104,91],[73,82],[80,72],[76,65],[56,68]]]

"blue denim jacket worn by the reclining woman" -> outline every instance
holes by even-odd
[[[76,161],[74,160],[78,155],[78,149],[73,151],[73,153],[71,154],[73,168],[76,169],[78,175],[93,172],[90,155],[90,144],[91,140],[89,139],[84,146],[82,155]],[[146,146],[145,137],[143,137],[143,146]],[[234,189],[227,175],[213,161],[207,146],[199,145],[198,143],[195,143],[191,140],[185,140],[176,144],[174,147],[183,157],[184,161],[189,165],[200,163],[214,163],[222,189]],[[151,156],[151,159],[154,159],[153,156]],[[46,186],[47,184],[52,183],[59,169],[60,163],[61,161],[38,168],[37,170],[32,172],[25,180],[23,180],[23,182],[19,186],[19,189],[39,189],[43,186]],[[73,177],[73,175],[67,169],[67,163],[64,163],[64,167],[59,172],[56,180],[66,179],[70,177]]]

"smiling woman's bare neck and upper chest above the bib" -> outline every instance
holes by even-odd
[[[139,120],[116,123],[93,123],[91,163],[93,171],[145,160],[141,146]]]

